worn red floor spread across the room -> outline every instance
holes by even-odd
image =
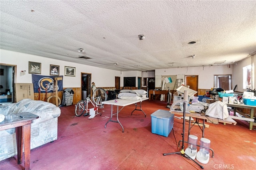
[[[177,142],[182,140],[182,119],[174,119],[168,137],[151,132],[151,114],[158,109],[169,110],[163,101],[143,101],[146,113],[135,111],[134,105],[124,107],[118,123],[105,123],[110,117],[110,106],[100,109],[102,115],[75,117],[75,106],[61,108],[58,118],[58,139],[31,150],[31,170],[170,170],[201,169],[192,160],[178,154],[163,156],[163,153],[179,152]],[[177,115],[178,116],[178,115]],[[179,116],[180,117],[180,116]],[[204,169],[256,169],[256,130],[249,130],[243,123],[223,125],[206,123],[204,137],[208,138],[214,157],[210,157]],[[202,131],[195,125],[190,134],[198,136]],[[185,141],[188,140],[188,122],[185,123]],[[182,143],[182,142],[181,142]],[[186,149],[187,143],[184,143]],[[199,150],[199,147],[198,147]],[[212,152],[210,152],[212,156]],[[16,156],[2,160],[1,170],[21,170]]]

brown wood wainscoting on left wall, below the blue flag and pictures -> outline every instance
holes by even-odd
[[[81,87],[66,87],[66,88],[63,88],[63,90],[68,88],[71,88],[74,91],[73,105],[75,105],[78,101],[82,99]],[[55,95],[55,93],[47,93],[47,96],[46,96],[46,93],[40,93],[40,98],[39,98],[39,93],[34,93],[34,100],[47,101],[47,99],[52,95]],[[63,91],[58,91],[58,97],[60,97],[60,102],[61,102],[63,97]],[[56,98],[52,97],[49,100],[49,102],[56,105]]]

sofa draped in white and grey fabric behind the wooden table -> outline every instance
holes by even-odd
[[[57,139],[60,108],[52,103],[23,99],[18,103],[0,105],[0,114],[30,112],[39,118],[31,124],[30,149]],[[0,160],[17,154],[15,128],[0,131]]]

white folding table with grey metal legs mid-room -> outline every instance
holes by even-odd
[[[118,119],[118,113],[125,107],[125,106],[128,106],[128,105],[132,105],[132,104],[135,104],[135,109],[132,111],[132,113],[134,111],[142,111],[142,108],[141,108],[141,104],[142,104],[142,101],[145,101],[147,100],[148,97],[144,98],[144,99],[141,99],[141,100],[124,100],[124,99],[114,99],[114,100],[110,100],[110,101],[103,101],[102,104],[106,104],[106,105],[111,105],[111,117],[110,119],[108,120],[108,122],[105,124],[105,128],[107,127],[107,124],[109,122],[116,122],[116,123],[119,123],[119,125],[122,127],[122,130],[124,132],[124,127],[122,126],[122,124],[120,123],[119,119]],[[137,103],[140,103],[139,107],[140,109],[137,109]],[[116,113],[113,113],[113,106],[117,106],[117,110],[116,110]],[[119,106],[121,106],[122,108],[119,110]],[[144,111],[142,111],[142,113],[144,113]],[[113,115],[116,115],[116,119],[117,121],[113,121],[112,120],[112,117]],[[145,117],[146,117],[146,114],[144,113]]]

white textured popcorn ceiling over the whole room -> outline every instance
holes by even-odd
[[[0,6],[1,49],[96,67],[233,64],[256,51],[255,0],[1,0]]]

